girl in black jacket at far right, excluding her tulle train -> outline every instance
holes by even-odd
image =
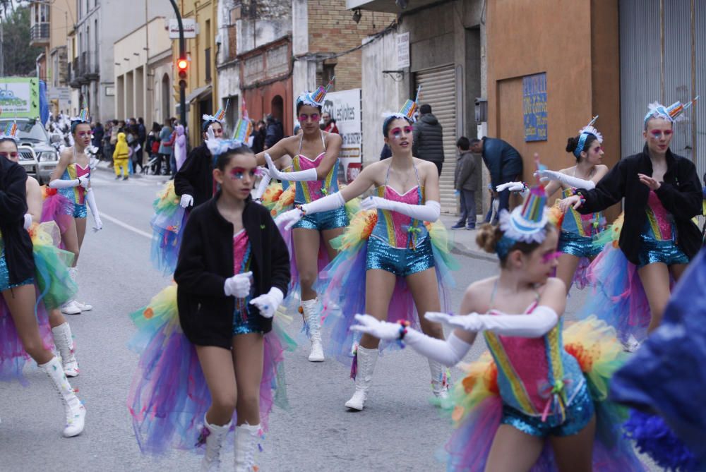
[[[625,198],[625,222],[618,242],[626,258],[638,267],[650,304],[647,332],[659,326],[671,294],[670,275],[678,280],[700,249],[700,232],[692,218],[701,213],[702,192],[690,160],[669,150],[674,119],[683,110],[650,105],[645,116],[645,147],[621,159],[593,190],[561,202],[587,214],[605,210]]]

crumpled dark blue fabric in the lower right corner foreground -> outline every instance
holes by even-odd
[[[611,399],[659,413],[706,462],[706,252],[682,275],[650,334],[611,382]]]

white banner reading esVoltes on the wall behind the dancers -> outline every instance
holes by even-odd
[[[345,183],[350,183],[360,174],[363,162],[360,99],[359,88],[329,92],[322,109],[323,113],[330,114],[331,118],[336,120],[338,132],[343,140],[338,179]]]

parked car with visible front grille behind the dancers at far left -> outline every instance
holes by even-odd
[[[0,119],[0,128],[4,128],[11,119]],[[20,164],[28,174],[37,178],[40,183],[48,183],[49,177],[56,169],[59,154],[49,140],[47,131],[39,120],[18,118],[18,138],[20,143]]]

